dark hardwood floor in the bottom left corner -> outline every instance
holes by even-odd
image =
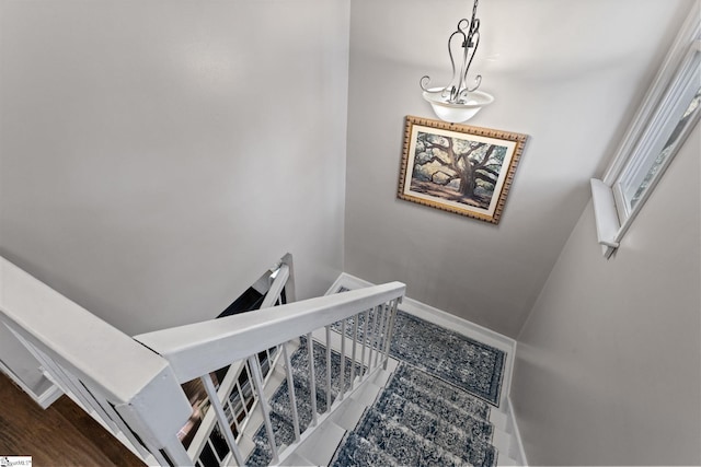
[[[0,456],[32,456],[33,466],[143,466],[67,396],[43,410],[0,373]]]

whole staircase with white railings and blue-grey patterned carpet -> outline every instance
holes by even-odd
[[[0,269],[0,320],[148,465],[516,465],[498,410],[389,357],[401,283],[294,302],[287,255],[262,310],[130,338]]]

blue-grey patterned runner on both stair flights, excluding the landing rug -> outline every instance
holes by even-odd
[[[326,410],[326,349],[314,342],[317,407]],[[332,400],[340,389],[341,355],[331,352]],[[300,430],[311,423],[309,358],[306,339],[290,355],[295,374]],[[350,361],[346,358],[346,377]],[[356,366],[359,373],[359,366]],[[278,446],[295,441],[287,382],[271,400],[271,421]],[[376,402],[368,407],[357,428],[348,432],[332,465],[347,466],[495,466],[490,406],[450,383],[406,363],[400,363]],[[255,450],[246,466],[268,465],[272,453],[264,427],[255,433]]]

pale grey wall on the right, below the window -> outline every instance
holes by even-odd
[[[530,465],[701,464],[701,126],[614,257],[590,203],[518,338]]]

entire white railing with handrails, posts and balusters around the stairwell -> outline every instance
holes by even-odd
[[[294,281],[291,256],[287,255],[286,258],[288,261],[280,262],[275,280],[269,285],[264,306],[281,302],[283,293],[287,300],[294,300],[295,291],[290,284]],[[363,346],[359,362],[361,376],[358,381],[367,380],[379,369],[380,353],[383,353],[382,359],[387,359],[386,349],[391,334],[387,327],[391,322],[388,319],[391,318],[388,312],[397,308],[404,292],[403,283],[391,282],[130,338],[0,257],[0,325],[7,325],[36,357],[47,377],[76,397],[85,410],[104,421],[113,434],[126,436],[142,459],[149,463],[154,460],[160,465],[199,463],[197,453],[200,448],[194,447],[191,451],[197,453],[189,453],[177,437],[179,431],[193,413],[180,384],[196,377],[202,378],[212,401],[211,407],[218,419],[216,423],[223,430],[226,442],[231,448],[230,455],[221,460],[226,463],[234,457],[238,464],[243,462],[244,453],[239,452],[235,436],[227,425],[223,405],[230,406],[231,401],[226,390],[225,399],[220,399],[225,388],[220,387],[216,392],[209,373],[228,365],[235,366],[246,359],[254,373],[253,383],[257,395],[255,404],[264,417],[268,442],[272,444],[273,463],[284,460],[294,445],[303,442],[318,428],[318,423],[331,415],[332,407],[337,408],[341,399],[349,394],[348,390],[353,390],[357,343]],[[375,312],[368,329],[370,310]],[[356,342],[360,315],[365,317],[365,334],[363,341]],[[346,384],[348,355],[345,319],[352,316],[355,316],[353,360],[349,361],[353,366],[350,381]],[[337,322],[342,322],[340,394],[334,396],[335,400],[330,398],[324,413],[318,416],[312,331]],[[307,336],[310,358],[308,371],[312,424],[300,433],[299,416],[292,413],[296,442],[284,450],[280,447],[278,453],[257,353],[295,341],[300,336]],[[325,345],[330,353],[329,336]],[[369,350],[367,363],[366,347]],[[289,355],[286,354],[286,348],[281,350],[283,352],[277,352],[276,359],[280,353],[285,354],[290,404],[296,407]],[[374,350],[377,352],[375,360]],[[330,362],[329,357],[326,363]],[[273,373],[274,362],[269,362],[269,365],[268,377]],[[367,369],[365,371],[364,365]],[[327,373],[331,374],[330,371]],[[233,383],[238,385],[238,376],[235,380]],[[331,385],[327,386],[331,397]],[[251,410],[253,408],[245,409],[246,416]],[[243,424],[249,421],[248,417]],[[210,433],[214,420],[212,423],[205,424],[206,432]],[[238,435],[243,429],[237,425]],[[205,442],[210,443],[208,435]],[[209,446],[211,448],[211,444]],[[152,457],[149,458],[149,455]]]

